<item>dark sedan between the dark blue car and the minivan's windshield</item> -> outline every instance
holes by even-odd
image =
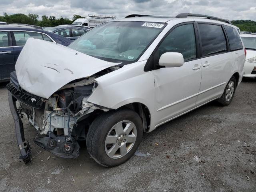
[[[44,30],[53,32],[55,34],[66,37],[70,40],[76,40],[78,37],[88,32],[88,29],[74,26],[57,26],[57,27],[48,27]]]

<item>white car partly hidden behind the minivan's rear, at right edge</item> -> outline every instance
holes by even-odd
[[[247,52],[244,63],[244,77],[256,78],[256,35],[242,34],[241,38]]]

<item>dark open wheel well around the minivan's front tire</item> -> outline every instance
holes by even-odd
[[[140,115],[140,118],[143,122],[143,129],[144,131],[148,131],[150,127],[150,112],[148,110],[148,107],[142,103],[130,103],[126,104],[122,107],[127,107],[135,111]]]

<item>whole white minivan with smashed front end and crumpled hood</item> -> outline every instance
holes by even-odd
[[[7,85],[20,158],[30,161],[26,117],[42,135],[34,142],[57,156],[76,158],[86,140],[96,162],[122,164],[144,132],[213,100],[230,104],[245,58],[235,26],[198,14],[130,15],[68,47],[30,38]]]

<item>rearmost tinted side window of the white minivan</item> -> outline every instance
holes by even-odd
[[[236,31],[236,29],[227,25],[224,25],[224,28],[228,36],[230,50],[235,51],[235,50],[243,49],[242,42],[240,40],[239,34]]]

